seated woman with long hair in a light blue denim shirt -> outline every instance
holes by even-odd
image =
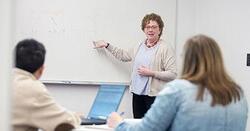
[[[182,68],[141,121],[112,113],[108,125],[116,131],[245,131],[247,101],[226,72],[218,44],[205,35],[190,38]]]

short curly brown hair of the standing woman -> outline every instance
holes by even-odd
[[[144,18],[142,19],[141,22],[141,29],[142,31],[146,31],[150,28],[147,27],[147,25],[150,22],[156,22],[157,25],[150,27],[152,30],[159,30],[159,37],[161,37],[162,35],[162,31],[163,31],[163,27],[164,27],[164,23],[161,19],[161,16],[155,14],[155,13],[151,13],[151,14],[147,14],[144,16]],[[145,30],[146,29],[146,30]]]

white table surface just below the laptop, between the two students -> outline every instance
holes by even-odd
[[[76,128],[72,131],[114,131],[112,128],[109,128],[108,125],[84,125]]]

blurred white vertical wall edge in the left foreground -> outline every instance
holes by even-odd
[[[0,0],[0,130],[10,131],[11,4]]]

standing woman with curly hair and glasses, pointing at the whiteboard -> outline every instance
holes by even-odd
[[[175,53],[160,37],[164,23],[157,14],[147,14],[141,24],[146,39],[133,50],[125,51],[105,41],[94,42],[95,48],[106,48],[117,59],[132,61],[130,91],[133,94],[134,118],[142,118],[163,84],[176,78]]]

